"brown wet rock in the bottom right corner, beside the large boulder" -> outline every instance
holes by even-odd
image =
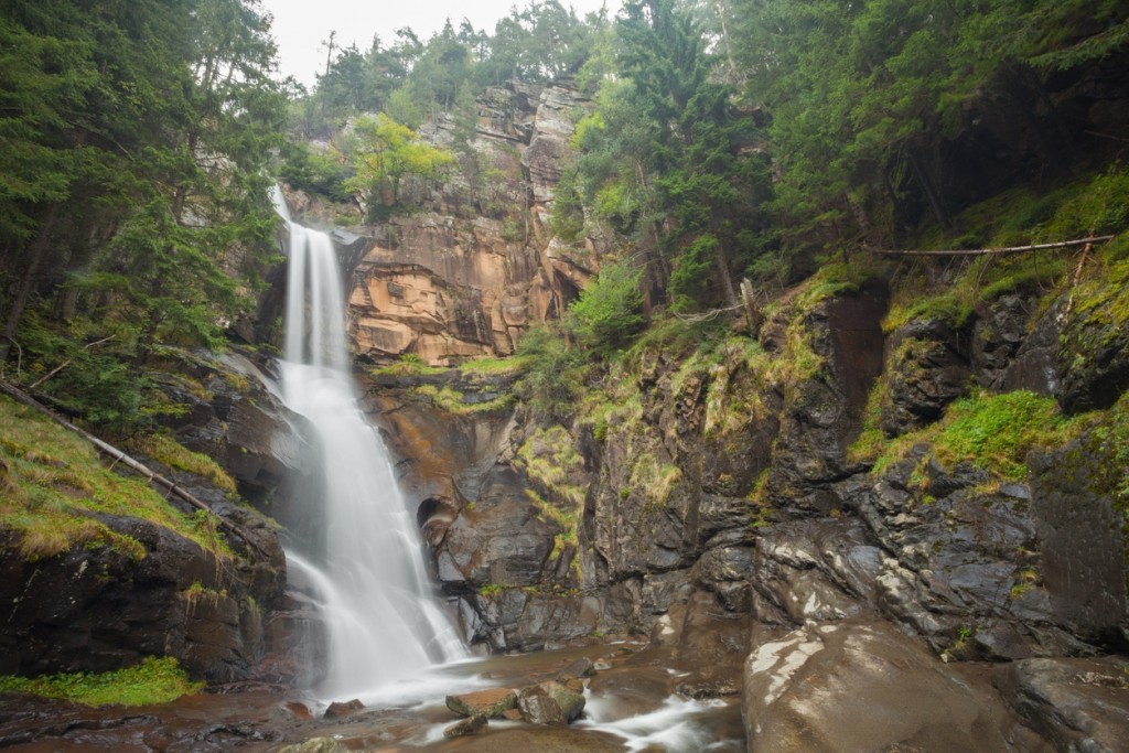
[[[1000,682],[1008,702],[1059,751],[1114,753],[1129,741],[1129,665],[1103,659],[1025,659]]]

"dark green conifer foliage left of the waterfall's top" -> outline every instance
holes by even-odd
[[[50,333],[27,349],[69,364],[60,401],[130,430],[155,348],[221,347],[273,255],[268,20],[254,0],[18,0],[0,38],[0,362]]]

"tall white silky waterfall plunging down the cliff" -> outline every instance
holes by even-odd
[[[355,697],[418,676],[465,649],[423,567],[414,515],[379,435],[357,406],[349,370],[341,274],[330,237],[290,228],[282,393],[322,445],[324,541],[288,552],[324,599],[330,638],[325,697]]]

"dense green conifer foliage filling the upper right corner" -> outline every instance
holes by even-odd
[[[957,236],[954,210],[1031,165],[1074,166],[1077,73],[1115,68],[1129,40],[1124,7],[1102,0],[735,10],[744,95],[771,116],[782,243],[889,247],[926,222]]]

